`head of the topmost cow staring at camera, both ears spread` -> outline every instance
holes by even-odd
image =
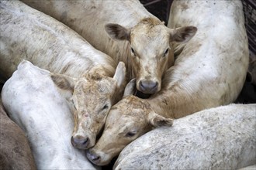
[[[171,42],[187,42],[197,31],[194,26],[169,29],[158,19],[142,19],[133,28],[107,24],[112,39],[130,42],[130,61],[137,79],[137,90],[156,93],[161,90],[161,78],[174,63]]]

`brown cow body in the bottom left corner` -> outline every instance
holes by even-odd
[[[36,170],[26,134],[6,114],[0,98],[0,169]]]

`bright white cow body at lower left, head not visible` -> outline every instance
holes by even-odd
[[[38,169],[99,169],[71,145],[73,115],[61,93],[67,91],[55,86],[49,71],[22,61],[2,88],[2,103],[26,133]]]

